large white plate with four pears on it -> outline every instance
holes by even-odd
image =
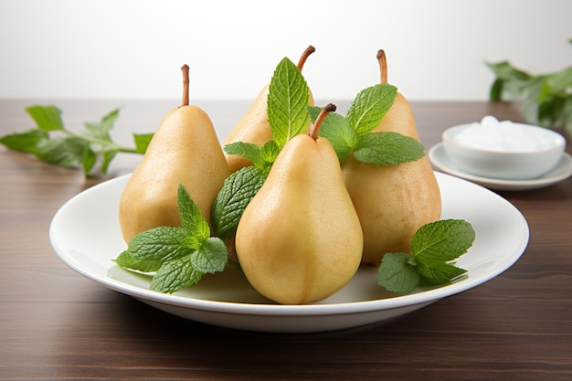
[[[172,295],[150,291],[149,277],[122,270],[111,261],[125,249],[117,210],[129,175],[95,185],[71,198],[53,217],[49,235],[59,258],[71,269],[165,312],[249,331],[344,329],[381,322],[469,290],[508,269],[524,252],[529,229],[512,204],[482,186],[450,175],[436,175],[443,197],[442,217],[465,219],[476,231],[474,245],[457,262],[468,270],[468,277],[404,296],[377,286],[374,267],[360,269],[343,290],[312,305],[272,304],[232,268]]]

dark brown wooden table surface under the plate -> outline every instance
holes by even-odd
[[[24,108],[57,104],[69,128],[122,106],[113,133],[153,132],[174,102],[0,100],[0,134],[33,127]],[[339,111],[347,102],[336,102]],[[223,136],[248,102],[196,102]],[[413,102],[426,147],[484,115],[520,120],[517,104]],[[570,153],[568,144],[567,152]],[[139,158],[121,156],[110,176]],[[58,207],[105,179],[0,147],[0,379],[572,379],[572,177],[499,191],[527,219],[530,242],[502,275],[386,323],[331,333],[249,333],[188,321],[70,270],[51,249]]]

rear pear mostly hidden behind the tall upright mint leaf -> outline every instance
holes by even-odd
[[[315,51],[315,48],[309,46],[302,53],[302,57],[298,61],[298,69],[302,71],[306,59]],[[268,93],[269,93],[270,83],[267,83],[262,90],[260,90],[259,95],[250,105],[249,110],[244,114],[244,116],[238,121],[234,128],[228,132],[223,145],[244,142],[244,143],[255,143],[259,146],[270,141],[272,139],[272,132],[270,130],[270,124],[268,122]],[[310,105],[313,106],[313,96],[312,91],[310,91]],[[310,125],[308,125],[308,132],[310,130]],[[249,159],[242,156],[232,155],[225,153],[227,158],[228,167],[230,172],[234,173],[240,168],[252,165]]]

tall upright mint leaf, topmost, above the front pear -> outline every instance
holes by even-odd
[[[306,130],[310,122],[309,101],[302,72],[289,58],[283,58],[270,80],[267,107],[272,139],[279,146]]]

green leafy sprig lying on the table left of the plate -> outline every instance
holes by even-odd
[[[7,148],[31,153],[42,162],[64,167],[79,166],[85,175],[91,173],[101,158],[101,174],[106,175],[117,153],[145,153],[153,133],[133,134],[135,147],[125,147],[113,142],[111,129],[119,116],[119,109],[109,112],[100,122],[84,123],[81,133],[68,130],[58,107],[34,105],[26,108],[36,122],[36,128],[16,132],[0,138]]]

